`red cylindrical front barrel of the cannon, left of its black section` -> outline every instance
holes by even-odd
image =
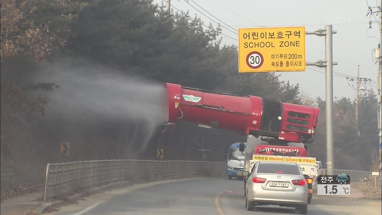
[[[251,99],[249,97],[204,93],[171,83],[166,83],[166,85],[169,123],[181,120],[248,134],[248,124],[251,121],[250,128],[259,129],[262,103],[260,97],[254,96],[253,98],[257,100],[257,109],[253,110],[257,113],[255,116],[250,114]],[[252,121],[258,123],[253,124]]]

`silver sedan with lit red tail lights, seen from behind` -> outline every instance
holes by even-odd
[[[258,161],[252,169],[243,172],[248,176],[245,206],[254,210],[255,205],[280,205],[295,207],[300,213],[308,212],[308,185],[297,163]]]

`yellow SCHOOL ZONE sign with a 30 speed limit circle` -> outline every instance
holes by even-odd
[[[305,69],[305,27],[239,29],[239,73]]]

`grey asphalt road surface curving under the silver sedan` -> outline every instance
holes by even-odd
[[[243,181],[196,179],[158,184],[118,194],[76,215],[261,215],[298,214],[294,208],[259,206],[255,211],[244,207]],[[380,200],[340,197],[315,197],[308,206],[311,215],[381,214]]]

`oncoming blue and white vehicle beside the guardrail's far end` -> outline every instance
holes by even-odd
[[[244,149],[246,147],[246,143],[243,143]],[[241,153],[239,150],[240,143],[233,143],[230,148],[228,148],[227,154],[227,174],[228,179],[232,179],[232,177],[243,178],[244,171],[244,160],[245,155]]]

